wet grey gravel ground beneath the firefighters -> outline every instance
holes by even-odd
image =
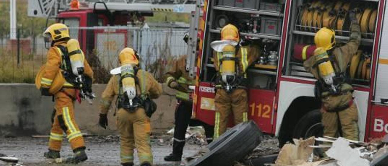
[[[151,137],[152,153],[156,166],[179,166],[180,162],[165,162],[163,157],[172,151],[171,135],[158,135]],[[120,137],[117,135],[86,137],[88,160],[78,164],[81,166],[117,166],[120,165]],[[17,157],[23,166],[71,166],[71,164],[55,164],[54,161],[45,159],[43,152],[47,150],[48,138],[16,137],[0,138],[0,153]],[[196,145],[189,140],[185,146],[184,156],[189,157],[204,145]],[[265,135],[263,142],[246,158],[264,156],[279,152],[278,142],[275,137]],[[61,157],[71,157],[72,152],[67,141],[63,142]],[[135,154],[136,156],[136,154]],[[139,164],[137,156],[135,164]],[[7,163],[0,161],[0,166]],[[8,164],[9,165],[9,164]],[[236,164],[242,166],[241,164]]]

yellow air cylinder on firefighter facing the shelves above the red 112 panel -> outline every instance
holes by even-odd
[[[236,48],[232,45],[225,46],[222,49],[222,57],[222,81],[225,83],[231,83],[234,81],[236,74]]]

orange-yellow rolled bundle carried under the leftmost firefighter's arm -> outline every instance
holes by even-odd
[[[40,67],[38,73],[36,73],[35,77],[35,86],[37,89],[40,89],[42,87],[42,84],[40,81],[42,80],[43,74],[45,73],[46,65],[43,65]],[[62,75],[61,70],[58,70],[58,73],[55,75],[54,80],[52,81],[52,84],[50,86],[49,92],[51,94],[55,94],[61,90],[62,86],[66,82],[65,78]]]

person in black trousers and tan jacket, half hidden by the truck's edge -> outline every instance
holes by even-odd
[[[185,146],[185,135],[189,126],[203,126],[205,129],[206,141],[213,140],[214,127],[201,121],[191,119],[192,117],[192,90],[190,85],[195,85],[195,79],[189,77],[189,71],[186,70],[187,55],[179,57],[173,62],[173,66],[165,74],[165,82],[168,87],[177,90],[177,108],[175,110],[175,127],[173,152],[165,156],[165,161],[181,161],[183,148]]]

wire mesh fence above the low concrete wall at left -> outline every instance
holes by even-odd
[[[43,29],[43,28],[42,28]],[[142,69],[159,79],[171,61],[187,52],[183,40],[187,28],[69,27],[71,38],[81,49],[95,73],[96,83],[106,83],[109,70],[118,67],[118,54],[125,47],[137,50]],[[21,35],[16,39],[0,32],[0,82],[34,83],[35,74],[46,62],[47,48],[41,34]]]

